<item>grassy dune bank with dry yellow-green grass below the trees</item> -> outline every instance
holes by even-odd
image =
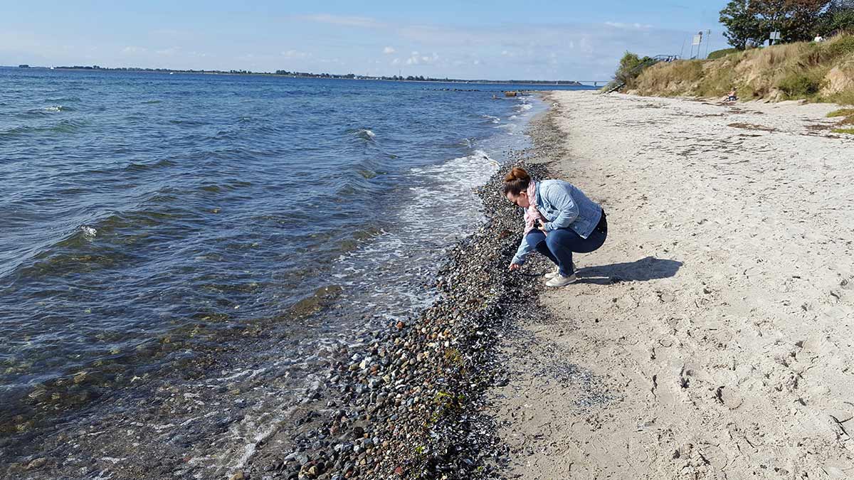
[[[662,97],[723,97],[735,87],[743,100],[854,104],[854,35],[736,51],[714,60],[658,63],[628,87]]]

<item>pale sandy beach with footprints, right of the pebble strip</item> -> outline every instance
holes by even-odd
[[[610,234],[504,338],[510,383],[489,395],[509,476],[854,477],[854,137],[829,131],[838,107],[546,99],[549,168],[604,206]]]

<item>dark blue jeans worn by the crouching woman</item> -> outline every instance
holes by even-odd
[[[576,231],[566,227],[549,231],[548,235],[539,230],[529,231],[525,241],[559,266],[561,275],[569,277],[573,273],[572,253],[588,254],[599,249],[602,243],[605,243],[606,237],[608,237],[608,222],[603,216],[600,225],[587,238],[582,238]]]

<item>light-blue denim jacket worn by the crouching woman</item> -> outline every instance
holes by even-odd
[[[599,204],[590,200],[575,185],[563,180],[542,180],[537,183],[534,203],[540,214],[548,220],[543,224],[546,234],[558,228],[570,227],[579,237],[587,238],[602,218]],[[512,263],[522,265],[532,251],[534,247],[523,237]]]

